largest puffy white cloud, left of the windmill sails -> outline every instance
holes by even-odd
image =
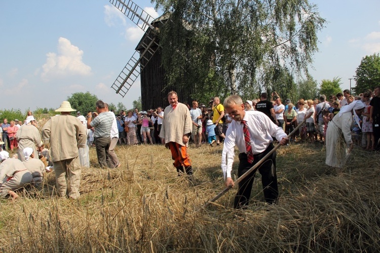
[[[58,53],[50,52],[46,56],[46,63],[42,66],[41,74],[45,81],[51,78],[91,74],[91,67],[82,61],[83,51],[65,38],[58,39]]]

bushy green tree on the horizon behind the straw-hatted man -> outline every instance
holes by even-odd
[[[81,112],[82,115],[86,115],[88,112],[94,112],[96,110],[96,101],[98,97],[90,92],[75,92],[70,97],[67,97],[67,101],[70,102],[71,107],[77,112]]]

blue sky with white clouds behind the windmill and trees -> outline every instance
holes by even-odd
[[[310,73],[318,84],[339,77],[349,89],[361,59],[380,52],[380,1],[310,2],[327,20]],[[150,0],[135,3],[159,16]],[[0,110],[58,108],[72,93],[87,91],[131,109],[141,94],[139,78],[124,98],[110,87],[142,34],[106,0],[2,1]]]

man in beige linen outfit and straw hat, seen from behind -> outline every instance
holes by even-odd
[[[86,146],[87,135],[81,121],[70,115],[74,111],[68,101],[63,101],[55,110],[61,115],[50,117],[42,128],[42,140],[50,144],[58,195],[78,199],[81,183],[78,148]]]

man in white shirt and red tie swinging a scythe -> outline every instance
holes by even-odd
[[[275,136],[281,145],[286,145],[289,138],[284,130],[276,126],[265,114],[258,111],[244,111],[241,97],[237,95],[227,97],[223,105],[226,113],[230,115],[233,121],[226,132],[221,168],[225,179],[225,186],[234,187],[235,184],[231,177],[231,170],[234,163],[235,146],[237,146],[240,152],[238,168],[238,176],[240,177],[274,149],[272,136]],[[276,152],[273,152],[259,166],[258,170],[261,174],[265,201],[271,204],[276,203],[278,199]],[[239,190],[234,201],[235,208],[241,208],[248,204],[254,174],[254,171],[251,172],[250,175],[239,183]]]

